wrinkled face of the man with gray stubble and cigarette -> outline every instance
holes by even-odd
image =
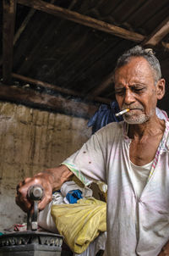
[[[143,124],[155,114],[157,92],[150,64],[143,57],[134,57],[115,73],[115,93],[128,124]]]

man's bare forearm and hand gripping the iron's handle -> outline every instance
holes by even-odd
[[[58,190],[63,185],[63,182],[68,181],[71,175],[73,173],[68,167],[61,165],[57,168],[40,172],[32,178],[26,178],[24,181],[20,181],[17,186],[16,203],[21,209],[28,212],[32,208],[32,202],[27,198],[28,189],[30,186],[41,185],[45,190],[45,196],[38,204],[38,208],[40,210],[44,209],[46,204],[52,201],[52,191]]]

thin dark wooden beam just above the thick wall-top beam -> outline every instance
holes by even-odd
[[[39,81],[39,80],[35,80],[33,78],[30,78],[30,77],[27,77],[27,76],[24,76],[24,75],[19,75],[19,74],[15,74],[15,73],[12,73],[12,76],[16,79],[19,79],[20,81],[25,81],[26,83],[30,83],[30,84],[33,84],[33,85],[36,85],[36,86],[41,86],[43,88],[46,88],[46,89],[51,89],[55,92],[61,92],[61,93],[64,93],[66,95],[71,95],[71,96],[75,96],[75,97],[82,97],[82,98],[86,98],[85,97],[85,94],[82,94],[80,92],[76,92],[74,90],[69,90],[69,89],[65,89],[65,88],[62,88],[60,86],[56,86],[56,85],[52,85],[52,84],[49,84],[49,83],[46,83],[46,82],[43,82],[43,81]],[[99,102],[99,103],[110,103],[112,100],[111,99],[108,99],[108,98],[104,98],[104,97],[88,97],[96,102]]]

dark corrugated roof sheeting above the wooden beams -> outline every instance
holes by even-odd
[[[52,3],[145,37],[155,31],[169,12],[168,0],[62,0]],[[84,94],[84,97],[92,94],[112,74],[117,58],[123,51],[138,44],[68,19],[32,10],[24,4],[17,4],[15,33],[28,15],[29,21],[14,45],[13,72],[74,90]],[[169,42],[169,35],[162,40]],[[166,70],[169,51],[155,46],[155,52],[168,82]],[[97,96],[113,100],[112,82]],[[162,108],[167,109],[168,103],[166,100],[163,102]]]

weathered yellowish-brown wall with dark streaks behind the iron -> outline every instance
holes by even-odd
[[[25,176],[55,167],[90,136],[87,120],[0,103],[0,231],[22,223],[15,187]]]

